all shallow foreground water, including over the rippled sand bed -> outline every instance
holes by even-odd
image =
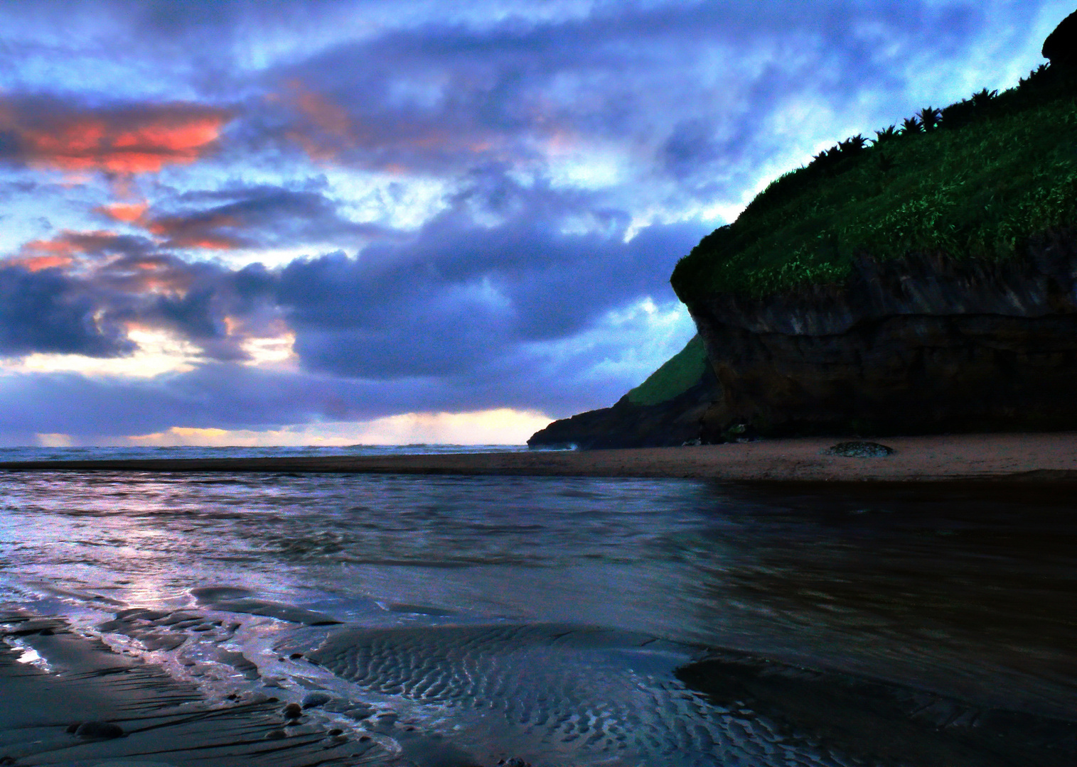
[[[415,764],[450,762],[408,751],[405,722],[478,764],[918,764],[791,736],[801,687],[753,683],[760,712],[682,671],[723,649],[813,690],[1073,720],[1074,507],[1043,487],[6,473],[0,588],[211,697],[324,690],[326,718]]]

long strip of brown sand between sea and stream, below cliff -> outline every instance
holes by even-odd
[[[392,473],[679,478],[738,483],[1074,482],[1077,432],[893,437],[885,457],[823,455],[849,438],[801,437],[684,448],[249,458],[2,461],[0,471]]]

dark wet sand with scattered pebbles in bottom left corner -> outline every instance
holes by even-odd
[[[61,620],[2,614],[0,765],[313,767],[386,758],[378,741],[334,737],[284,700],[212,702],[163,670],[73,633]],[[26,663],[32,651],[50,668]]]

